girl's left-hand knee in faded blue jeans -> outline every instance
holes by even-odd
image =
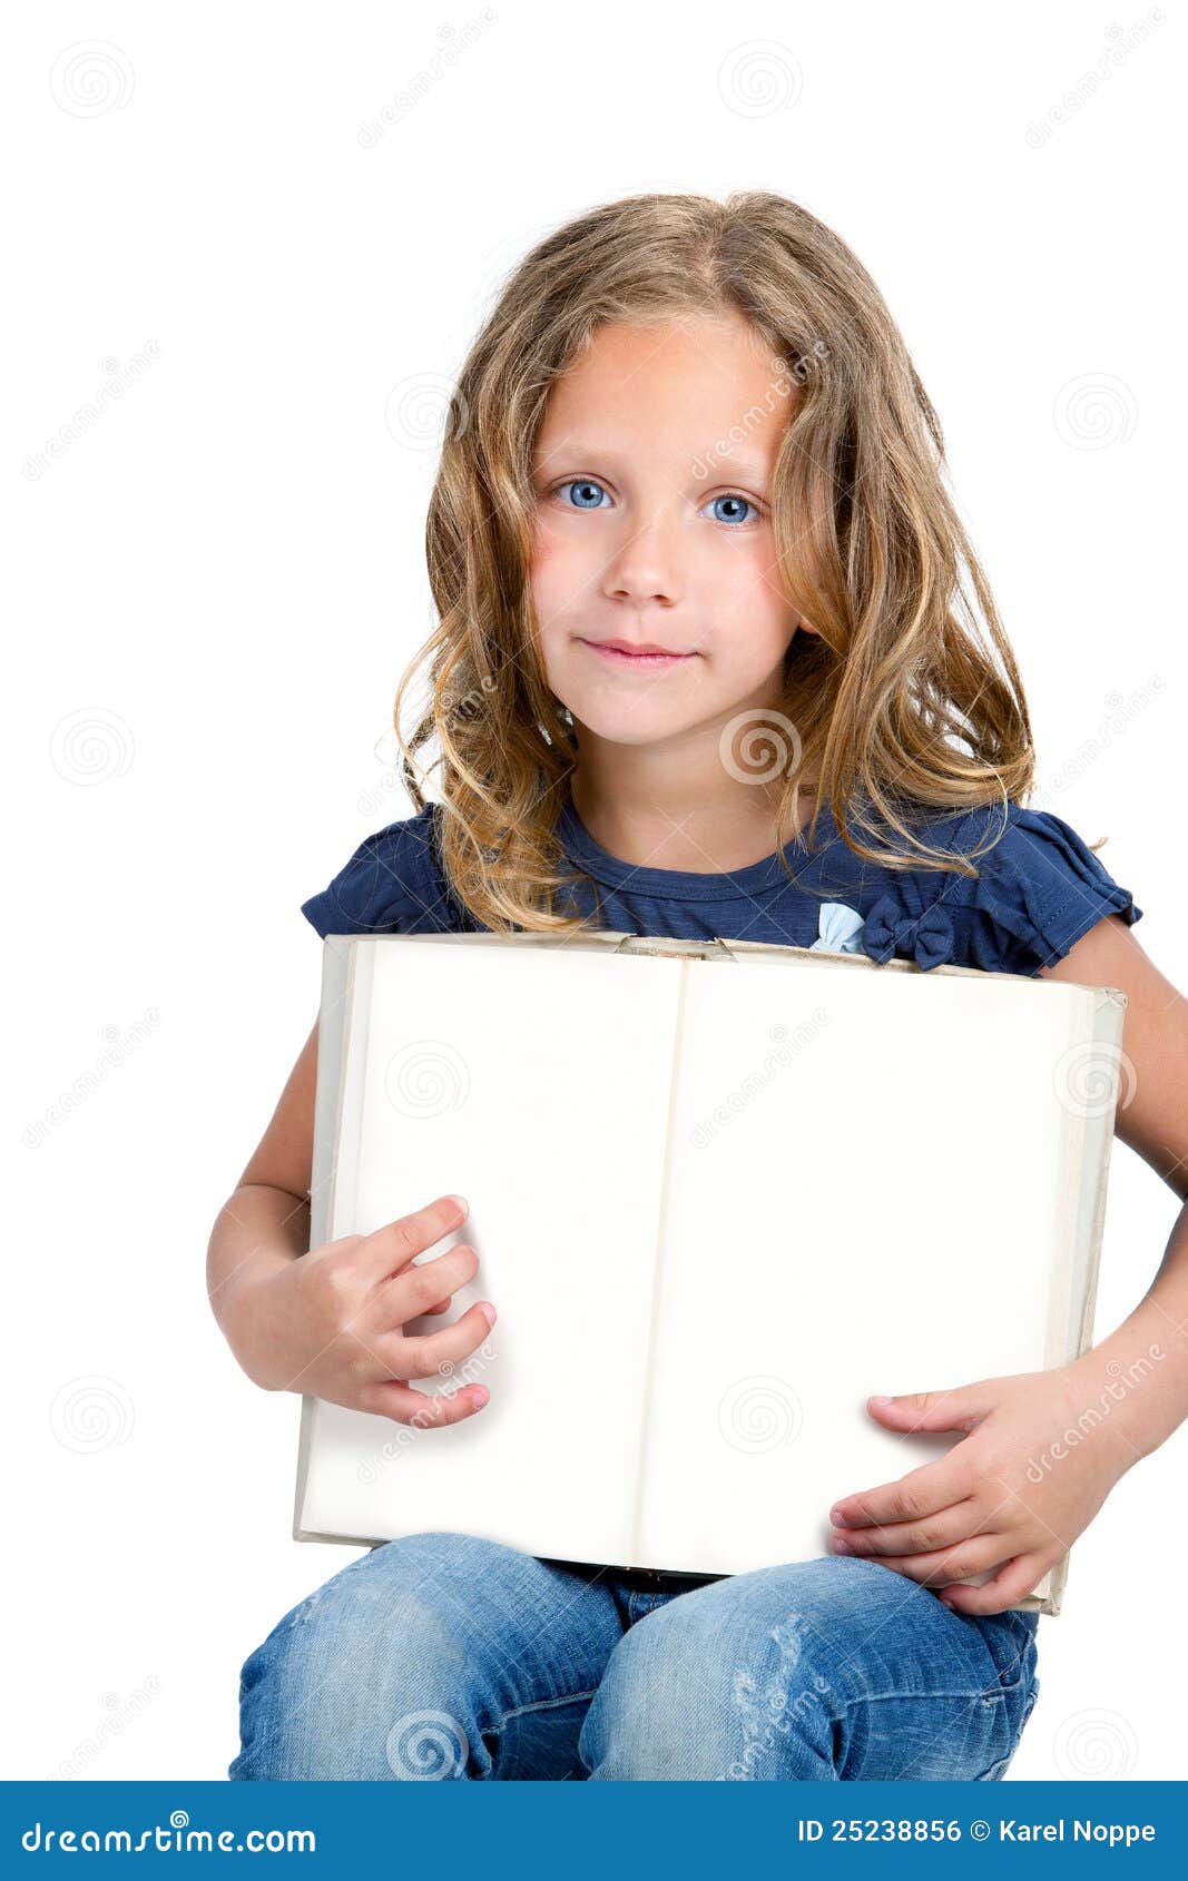
[[[461,1778],[486,1757],[458,1635],[465,1608],[441,1597],[458,1544],[497,1546],[446,1533],[386,1542],[273,1627],[241,1670],[232,1779]]]

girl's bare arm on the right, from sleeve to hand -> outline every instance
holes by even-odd
[[[1118,916],[1043,978],[1128,995],[1115,1130],[1188,1196],[1188,1003]],[[962,1614],[1028,1595],[1118,1478],[1188,1416],[1188,1209],[1135,1309],[1069,1366],[868,1399],[889,1430],[962,1430],[947,1456],[834,1505],[838,1554],[934,1586]],[[958,1586],[996,1569],[985,1586]]]

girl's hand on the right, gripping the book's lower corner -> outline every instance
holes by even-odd
[[[968,1437],[896,1482],[834,1503],[830,1550],[932,1586],[960,1614],[998,1614],[1030,1593],[1137,1462],[1075,1364],[868,1398],[866,1407],[885,1430]],[[987,1569],[998,1573],[985,1586],[953,1586]]]

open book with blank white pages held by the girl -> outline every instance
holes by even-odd
[[[311,1247],[465,1194],[418,1258],[467,1241],[474,1281],[405,1330],[499,1319],[412,1381],[484,1383],[458,1424],[303,1401],[294,1535],[821,1556],[840,1497],[960,1441],[883,1430],[868,1394],[1092,1343],[1124,1008],[746,940],[329,935]],[[1058,1612],[1066,1571],[1019,1606]]]

